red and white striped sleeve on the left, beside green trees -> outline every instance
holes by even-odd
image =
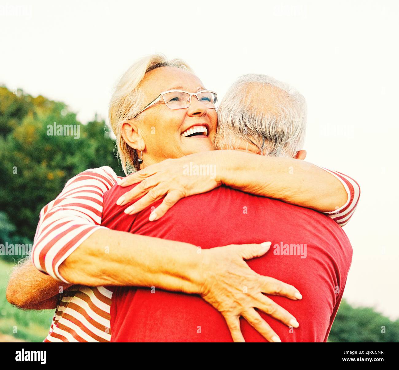
[[[63,191],[40,212],[32,248],[38,270],[68,283],[59,265],[99,228],[103,195],[121,177],[111,167],[88,169],[70,179]]]

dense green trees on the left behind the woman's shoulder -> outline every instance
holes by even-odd
[[[79,136],[54,135],[54,122]],[[81,124],[64,103],[0,87],[0,210],[9,219],[0,243],[10,243],[6,232],[18,243],[33,240],[41,208],[77,173],[104,165],[122,173],[105,127],[97,119]]]

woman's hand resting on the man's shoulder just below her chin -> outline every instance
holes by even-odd
[[[221,181],[217,177],[221,167],[218,165],[220,158],[217,151],[201,152],[178,159],[166,159],[132,173],[119,181],[119,185],[140,184],[120,197],[117,205],[125,205],[144,195],[124,211],[132,215],[166,195],[149,218],[150,221],[158,220],[180,199],[220,186]]]

